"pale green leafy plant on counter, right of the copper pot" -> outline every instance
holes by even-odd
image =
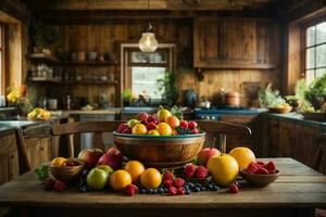
[[[262,107],[275,107],[286,101],[279,95],[278,90],[272,90],[272,84],[259,90],[259,102]]]

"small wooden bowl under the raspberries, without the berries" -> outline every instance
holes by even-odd
[[[266,187],[278,178],[279,170],[276,170],[276,174],[260,175],[249,174],[244,169],[241,169],[240,175],[248,183],[254,187]]]

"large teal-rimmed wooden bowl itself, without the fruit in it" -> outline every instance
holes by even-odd
[[[150,136],[113,132],[114,144],[124,156],[155,168],[174,168],[189,163],[202,149],[204,140],[205,133]]]

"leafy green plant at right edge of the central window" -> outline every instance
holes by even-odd
[[[158,92],[161,93],[162,98],[167,101],[168,104],[176,104],[179,95],[177,88],[176,75],[173,72],[166,71],[164,78],[156,80]]]

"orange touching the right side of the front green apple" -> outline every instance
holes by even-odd
[[[115,191],[121,191],[131,183],[131,176],[128,171],[118,169],[110,176],[110,186]]]

